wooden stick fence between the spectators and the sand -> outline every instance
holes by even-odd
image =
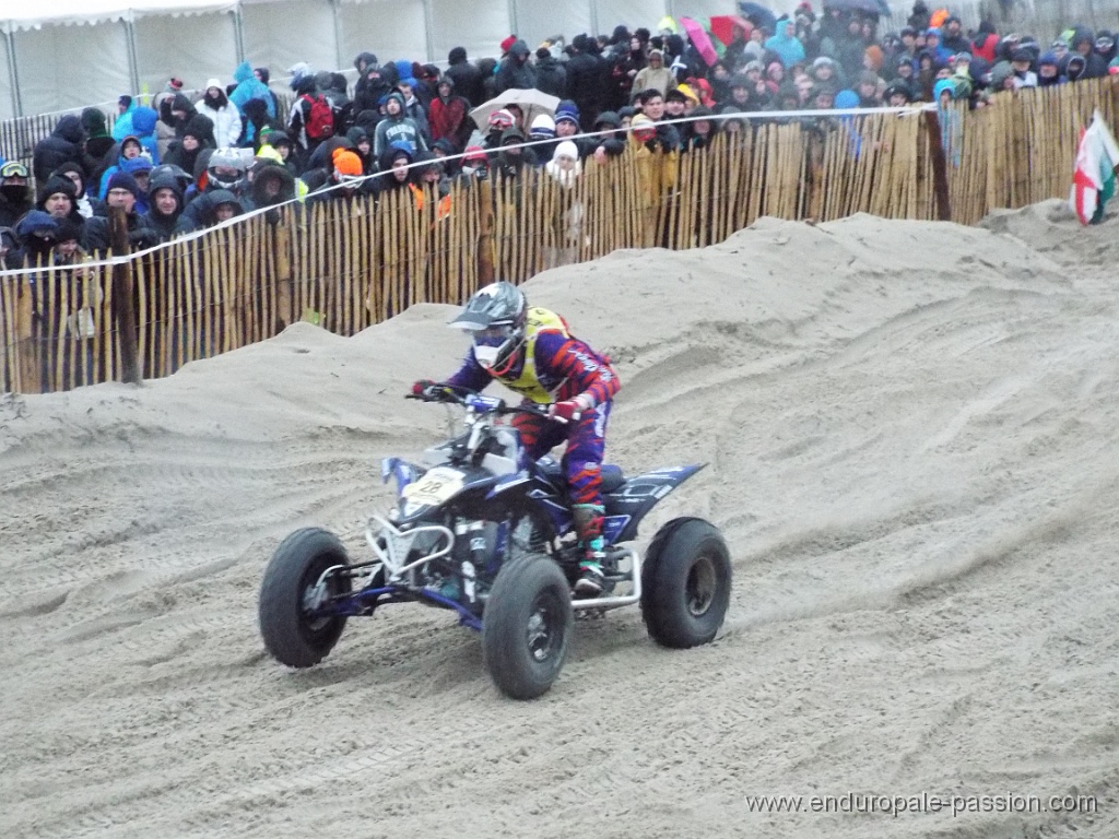
[[[952,220],[1068,195],[1094,109],[1115,125],[1119,85],[1005,93],[979,111],[941,112]],[[457,182],[446,196],[403,187],[338,197],[172,242],[131,260],[142,373],[167,376],[299,320],[354,334],[416,302],[460,303],[491,279],[521,282],[620,247],[703,247],[762,215],[932,219],[924,119],[914,110],[771,120],[683,155],[631,147],[592,158],[574,182],[525,168]],[[2,389],[119,378],[112,312],[111,266],[0,274]]]

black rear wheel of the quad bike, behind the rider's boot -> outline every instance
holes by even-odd
[[[731,602],[731,554],[709,521],[674,519],[649,545],[641,567],[641,613],[659,644],[705,644],[723,625]]]

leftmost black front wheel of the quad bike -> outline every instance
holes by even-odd
[[[289,667],[311,667],[327,657],[346,626],[345,615],[314,616],[330,597],[350,591],[349,575],[323,572],[349,566],[338,537],[318,527],[295,530],[280,543],[261,582],[261,635],[272,657]]]

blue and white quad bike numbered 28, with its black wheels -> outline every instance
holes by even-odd
[[[700,465],[623,477],[603,465],[605,590],[572,600],[581,552],[566,479],[546,456],[530,462],[502,415],[544,413],[481,394],[441,387],[422,398],[464,409],[466,433],[429,449],[424,465],[382,464],[397,503],[374,516],[366,540],[375,559],[351,563],[337,536],[303,528],[276,548],[260,592],[264,644],[281,663],[319,663],[348,618],[389,603],[420,602],[455,612],[481,632],[486,667],[515,699],[538,697],[567,656],[574,615],[640,603],[649,634],[670,648],[709,642],[731,597],[731,557],[718,529],[699,518],[660,528],[641,557],[626,543],[652,507]]]

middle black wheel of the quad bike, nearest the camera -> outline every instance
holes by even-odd
[[[542,554],[507,562],[482,615],[482,657],[490,678],[514,699],[535,699],[560,675],[575,618],[567,578]]]

